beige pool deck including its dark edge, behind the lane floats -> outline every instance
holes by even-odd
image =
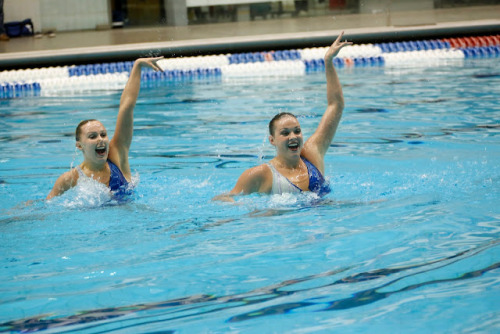
[[[430,22],[430,23],[429,23]],[[358,43],[500,33],[500,5],[392,14],[295,17],[184,27],[57,32],[0,42],[0,70],[324,46],[340,31]]]

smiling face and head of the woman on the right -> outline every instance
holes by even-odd
[[[293,116],[280,118],[274,124],[274,133],[269,142],[276,147],[278,154],[299,155],[304,146],[304,137],[299,121]]]

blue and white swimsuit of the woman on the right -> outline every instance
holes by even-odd
[[[328,194],[330,192],[330,186],[328,182],[326,182],[325,178],[318,170],[318,168],[316,168],[316,166],[314,166],[306,158],[300,158],[306,164],[307,173],[309,174],[309,190],[318,194],[319,196]],[[289,179],[284,177],[272,164],[268,163],[268,166],[271,168],[271,171],[273,173],[273,187],[271,189],[271,194],[302,192],[302,189],[300,189]]]

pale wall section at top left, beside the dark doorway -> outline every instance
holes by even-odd
[[[110,12],[109,0],[4,0],[4,22],[30,18],[35,31],[94,30]]]

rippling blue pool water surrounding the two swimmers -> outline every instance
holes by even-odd
[[[81,162],[81,119],[113,130],[119,91],[0,100],[0,331],[498,332],[498,59],[339,76],[321,200],[211,198],[273,156],[275,113],[314,131],[323,73],[145,85],[124,204],[24,204]]]

